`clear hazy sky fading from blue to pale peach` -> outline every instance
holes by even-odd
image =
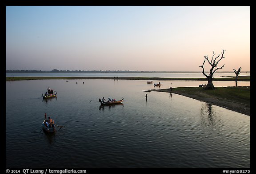
[[[6,70],[200,72],[223,50],[250,71],[250,6],[6,6]]]

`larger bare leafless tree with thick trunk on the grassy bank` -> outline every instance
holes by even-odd
[[[219,68],[216,68],[218,63],[220,62],[220,60],[225,58],[223,56],[225,51],[226,50],[223,50],[223,53],[221,53],[221,57],[220,57],[220,54],[219,54],[218,56],[213,58],[215,56],[215,53],[214,53],[214,50],[213,50],[213,55],[212,55],[211,60],[208,59],[208,56],[204,56],[204,63],[207,61],[210,64],[210,66],[211,66],[209,75],[204,73],[204,63],[203,63],[203,65],[199,66],[199,67],[201,67],[203,69],[202,73],[204,74],[204,76],[208,80],[208,84],[206,85],[205,89],[215,89],[215,87],[214,87],[214,85],[212,83],[212,81],[213,81],[213,74],[216,72],[216,70],[222,69],[224,67],[224,65],[223,65],[223,66],[221,66]]]

